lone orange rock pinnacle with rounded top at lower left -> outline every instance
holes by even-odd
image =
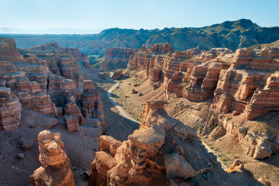
[[[42,166],[29,177],[30,185],[75,185],[61,134],[43,130],[38,134],[38,144]]]

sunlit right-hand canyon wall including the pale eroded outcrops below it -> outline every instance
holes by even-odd
[[[209,134],[218,126],[213,136],[222,130],[223,135],[233,134],[244,153],[264,159],[278,151],[278,133],[271,130],[268,123],[262,126],[255,120],[261,121],[261,116],[278,111],[278,52],[278,48],[243,48],[234,53],[225,48],[202,51],[197,47],[162,55],[142,48],[130,58],[128,68],[144,70],[153,89],[161,86],[167,98],[208,104],[206,116],[209,118],[204,118],[204,109],[198,108],[187,112],[192,118],[180,117],[184,121],[186,118],[195,121],[190,125],[199,134]],[[210,113],[217,114],[218,121]],[[228,114],[227,117],[224,114]],[[229,121],[238,115],[241,115],[239,121],[237,118]],[[246,128],[240,121],[254,121],[254,124]],[[266,134],[257,129],[260,126]]]

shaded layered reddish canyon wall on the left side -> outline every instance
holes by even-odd
[[[79,125],[103,130],[100,94],[93,82],[82,82],[77,62],[89,62],[77,48],[61,48],[51,42],[17,49],[13,39],[0,38],[1,127],[17,129],[26,108],[64,117],[71,131]]]

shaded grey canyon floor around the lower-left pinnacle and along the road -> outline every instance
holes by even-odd
[[[98,86],[104,102],[105,134],[111,135],[121,141],[126,140],[138,128],[133,123],[119,115],[117,109],[107,98],[107,90],[114,83],[107,79],[98,77],[95,68],[90,70],[80,65],[80,72],[84,79],[91,79]],[[17,130],[0,131],[0,185],[29,185],[29,176],[40,166],[38,161],[39,151],[37,137],[42,130],[61,133],[61,138],[66,146],[66,152],[70,157],[76,185],[88,185],[82,178],[84,171],[90,171],[90,164],[99,149],[100,128],[80,125],[80,130],[70,132],[67,130],[63,117],[56,118],[58,123],[54,127],[54,118],[45,116],[31,109],[23,109],[22,123]],[[21,144],[27,146],[28,150],[20,148]],[[80,153],[82,152],[82,153]],[[24,158],[17,158],[17,154],[23,153]]]

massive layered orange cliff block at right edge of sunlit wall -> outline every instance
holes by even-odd
[[[213,104],[221,113],[248,109],[248,119],[277,111],[278,59],[279,49],[238,49],[231,67],[220,72]]]

